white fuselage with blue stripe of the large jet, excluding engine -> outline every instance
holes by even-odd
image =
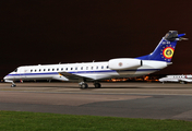
[[[69,64],[39,64],[19,67],[9,73],[5,82],[16,80],[60,80],[60,81],[97,81],[110,78],[133,78],[156,72],[167,67],[167,62],[143,60],[141,67],[127,70],[111,70],[109,62],[85,62]],[[72,75],[72,76],[71,76]]]

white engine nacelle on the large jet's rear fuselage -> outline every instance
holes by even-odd
[[[127,70],[141,67],[142,60],[134,58],[119,58],[109,60],[109,69],[111,70]]]

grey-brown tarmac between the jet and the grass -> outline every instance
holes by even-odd
[[[0,110],[192,121],[192,84],[0,83]]]

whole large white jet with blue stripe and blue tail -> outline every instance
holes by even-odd
[[[104,62],[83,62],[68,64],[38,64],[19,67],[4,76],[5,82],[19,80],[60,80],[76,81],[81,88],[87,88],[86,82],[93,82],[95,87],[100,87],[99,80],[111,78],[134,78],[159,71],[171,64],[176,44],[182,40],[185,34],[169,31],[160,40],[155,50],[137,58],[117,58]]]

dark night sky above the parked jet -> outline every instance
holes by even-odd
[[[187,33],[164,73],[192,73],[192,1],[2,0],[0,78],[19,66],[107,61],[152,52],[168,31]]]

